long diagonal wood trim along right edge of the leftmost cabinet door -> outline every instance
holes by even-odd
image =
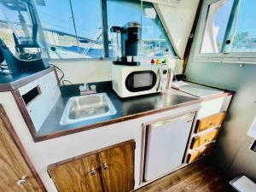
[[[36,171],[35,167],[32,164],[32,161],[29,159],[28,154],[26,153],[25,148],[23,147],[22,143],[20,142],[20,138],[18,137],[17,133],[15,132],[15,129],[13,125],[11,124],[7,114],[4,111],[3,105],[0,104],[0,118],[3,120],[3,124],[6,126],[7,131],[9,131],[10,137],[14,140],[15,145],[20,151],[20,154],[26,161],[27,166],[29,167],[30,171],[32,172],[33,177],[38,182],[38,185],[41,187],[41,189],[44,192],[47,192],[47,190],[44,187],[44,183],[42,182],[41,178],[38,176],[38,172]]]

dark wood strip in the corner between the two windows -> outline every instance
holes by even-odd
[[[200,16],[200,13],[201,13],[202,4],[203,4],[203,1],[199,0],[198,7],[197,7],[197,10],[196,10],[196,14],[195,14],[195,20],[194,20],[194,23],[193,23],[193,26],[192,26],[192,29],[191,29],[191,32],[190,32],[190,35],[189,35],[188,44],[187,44],[187,47],[186,47],[185,53],[184,53],[183,73],[185,73],[186,68],[188,66],[189,54],[190,54],[190,51],[191,51],[191,48],[192,48],[193,40],[195,38],[195,30],[196,30],[196,26],[197,26],[199,16]],[[193,37],[191,38],[191,36],[193,36]]]

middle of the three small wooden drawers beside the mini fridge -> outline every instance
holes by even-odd
[[[194,137],[191,143],[191,149],[198,148],[202,145],[215,141],[218,137],[219,129],[212,130],[204,135]]]

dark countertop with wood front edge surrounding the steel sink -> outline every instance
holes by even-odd
[[[51,137],[60,137],[77,131],[90,130],[103,125],[110,125],[127,119],[135,119],[201,102],[199,97],[189,96],[182,91],[172,89],[164,93],[125,99],[119,98],[113,90],[104,92],[108,94],[108,97],[113,102],[117,113],[108,117],[85,120],[70,125],[60,125],[61,116],[68,99],[72,96],[78,96],[78,94],[61,96],[38,131],[38,138],[35,138],[35,140],[42,141]]]

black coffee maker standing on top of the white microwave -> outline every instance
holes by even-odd
[[[138,48],[142,39],[142,26],[138,22],[128,22],[125,26],[112,26],[111,32],[117,34],[116,41],[116,57],[117,60],[113,61],[114,65],[125,66],[139,66],[140,62],[135,61],[137,58]],[[121,36],[119,42],[119,35]],[[121,44],[121,47],[119,47]],[[119,50],[120,49],[120,50]],[[121,55],[119,55],[119,52]],[[127,58],[131,58],[129,61]]]

